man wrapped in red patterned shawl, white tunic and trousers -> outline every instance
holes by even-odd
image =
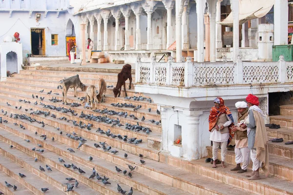
[[[214,104],[209,111],[209,139],[212,141],[212,159],[213,166],[216,168],[218,148],[221,145],[221,165],[225,168],[225,158],[227,154],[227,145],[232,139],[231,126],[234,125],[234,119],[230,109],[224,105],[224,100],[220,97],[214,99]]]

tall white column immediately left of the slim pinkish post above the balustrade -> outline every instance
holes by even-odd
[[[196,0],[197,13],[197,62],[204,62],[204,9],[206,2]]]

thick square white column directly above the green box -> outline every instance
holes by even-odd
[[[288,0],[275,0],[274,4],[274,45],[288,44]]]

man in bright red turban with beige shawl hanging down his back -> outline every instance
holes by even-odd
[[[246,98],[249,107],[248,117],[242,128],[247,127],[248,147],[251,149],[252,173],[246,176],[249,180],[260,179],[259,168],[265,175],[269,175],[269,149],[268,137],[265,127],[264,114],[258,107],[259,101],[256,96],[249,94]]]

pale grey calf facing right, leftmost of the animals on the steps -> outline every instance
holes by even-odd
[[[68,89],[73,88],[74,89],[74,97],[76,97],[76,90],[77,88],[80,88],[82,91],[85,89],[85,85],[81,82],[79,75],[75,75],[69,78],[65,78],[62,82],[63,84],[63,103],[67,103],[67,92]]]

